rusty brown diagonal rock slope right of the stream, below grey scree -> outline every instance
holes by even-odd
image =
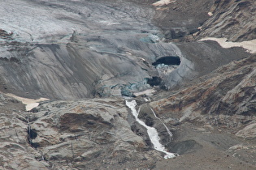
[[[202,77],[198,80],[200,83],[155,101],[151,106],[159,114],[180,122],[199,121],[239,130],[255,121],[255,63],[255,56],[231,62]]]

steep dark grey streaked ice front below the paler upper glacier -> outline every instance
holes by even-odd
[[[139,40],[129,41],[128,44],[141,47],[123,48],[116,52],[118,45],[113,45],[112,52],[97,52],[90,47],[80,48],[72,42],[67,45],[19,45],[13,50],[9,45],[4,46],[7,51],[2,56],[1,82],[6,84],[7,89],[2,87],[2,90],[15,91],[20,96],[29,91],[33,97],[50,99],[85,98],[97,94],[120,96],[120,89],[115,87],[129,87],[130,84],[137,85],[130,90],[143,91],[150,87],[145,78],[158,76],[158,71],[148,63],[154,62],[155,56],[173,55],[177,48],[171,44],[159,43],[156,46]],[[92,40],[89,44],[93,44]],[[132,55],[126,53],[133,50],[135,53]],[[142,50],[143,53],[136,52]],[[193,69],[193,66],[190,67]],[[168,82],[168,79],[167,74],[165,81]]]

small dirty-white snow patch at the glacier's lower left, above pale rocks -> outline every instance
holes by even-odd
[[[46,99],[46,98],[40,98],[40,99],[28,99],[28,98],[24,98],[24,97],[20,97],[20,96],[15,96],[14,94],[11,94],[11,93],[7,93],[5,94],[6,96],[10,96],[10,97],[13,97],[15,98],[16,100],[20,100],[23,104],[26,104],[26,111],[29,111],[33,108],[36,108],[40,101],[45,101],[45,100],[49,100],[49,99]]]

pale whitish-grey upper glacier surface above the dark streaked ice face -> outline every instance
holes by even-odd
[[[91,35],[124,30],[125,26],[135,31],[151,27],[142,21],[150,18],[150,11],[134,7],[129,9],[134,14],[127,15],[126,8],[129,7],[121,4],[115,10],[107,4],[82,0],[3,0],[0,1],[0,29],[19,42],[67,43],[74,33]],[[133,15],[138,14],[141,17],[134,19]]]

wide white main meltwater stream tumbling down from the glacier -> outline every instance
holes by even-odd
[[[157,151],[161,151],[161,152],[165,153],[166,154],[164,156],[165,159],[175,157],[176,155],[174,155],[173,153],[167,152],[165,147],[163,147],[163,145],[159,142],[160,138],[158,136],[158,131],[154,127],[150,127],[148,125],[145,125],[145,122],[141,121],[138,118],[139,113],[137,112],[137,110],[135,108],[136,105],[137,105],[136,101],[135,100],[132,100],[132,101],[126,100],[126,105],[128,106],[128,108],[130,108],[132,110],[132,114],[135,117],[136,121],[138,123],[140,123],[141,125],[143,125],[147,129],[147,133],[150,136],[150,141],[154,145],[154,149],[157,150]]]

